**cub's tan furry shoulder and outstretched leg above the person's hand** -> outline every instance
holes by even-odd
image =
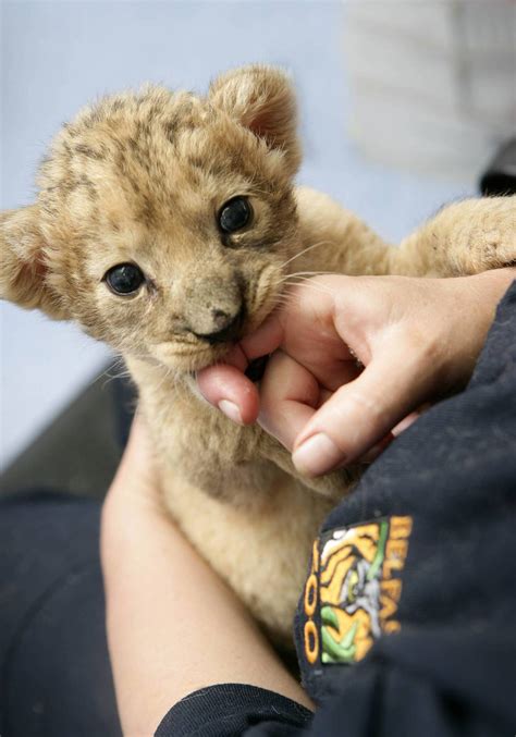
[[[296,193],[305,272],[348,275],[460,277],[516,263],[516,196],[468,199],[391,246],[327,195]]]

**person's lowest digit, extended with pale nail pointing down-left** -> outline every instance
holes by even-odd
[[[376,357],[365,371],[342,386],[314,415],[294,444],[293,462],[304,474],[319,476],[348,464],[379,443],[432,389],[425,361],[397,344],[396,356]]]

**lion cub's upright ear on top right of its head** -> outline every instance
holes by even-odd
[[[290,173],[300,163],[296,98],[288,76],[272,66],[244,66],[212,82],[208,99],[216,108],[285,155]]]

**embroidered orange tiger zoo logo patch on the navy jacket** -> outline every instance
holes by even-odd
[[[305,585],[305,655],[310,664],[352,665],[374,640],[397,632],[401,574],[411,517],[340,527],[314,543]]]

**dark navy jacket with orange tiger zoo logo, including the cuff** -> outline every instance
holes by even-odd
[[[468,388],[377,459],[323,525],[295,622],[316,714],[222,685],[158,737],[516,734],[516,282]]]

